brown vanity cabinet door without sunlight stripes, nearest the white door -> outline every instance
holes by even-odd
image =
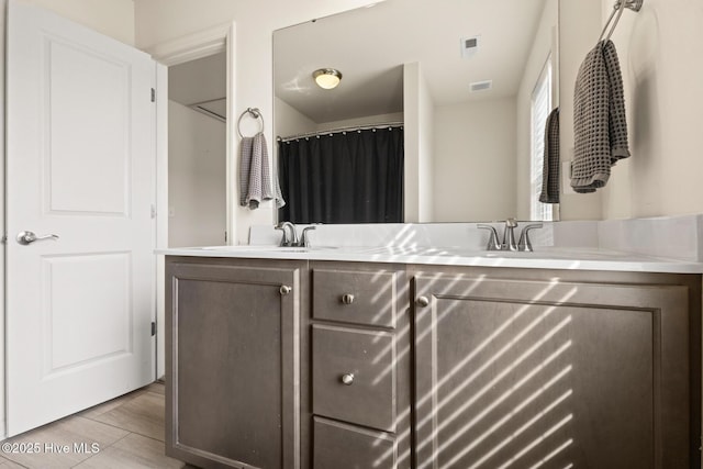
[[[169,264],[168,455],[201,467],[299,467],[299,277]]]

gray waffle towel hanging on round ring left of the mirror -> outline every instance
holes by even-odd
[[[261,201],[276,199],[276,208],[286,204],[274,178],[271,191],[271,171],[268,166],[266,137],[261,132],[253,137],[242,137],[239,142],[239,205],[258,209]]]

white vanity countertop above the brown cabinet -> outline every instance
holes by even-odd
[[[615,270],[703,273],[703,263],[648,257],[599,248],[535,248],[534,253],[486,252],[462,247],[278,247],[268,245],[158,249],[167,256],[265,259],[343,260],[437,266],[512,267],[533,269]]]

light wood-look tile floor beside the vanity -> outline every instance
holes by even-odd
[[[190,468],[164,455],[164,384],[156,382],[4,440],[0,469]],[[7,444],[40,451],[8,453]]]

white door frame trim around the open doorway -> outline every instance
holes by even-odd
[[[156,60],[159,66],[156,74],[156,232],[157,248],[168,247],[168,67],[179,65],[198,58],[208,57],[222,52],[226,53],[226,119],[234,122],[236,115],[235,105],[235,54],[236,54],[236,24],[234,22],[219,24],[203,31],[166,41],[144,49]],[[227,231],[227,244],[232,244],[235,237],[235,220],[233,210],[236,206],[234,187],[237,180],[236,160],[234,148],[236,136],[231,132],[231,125],[226,125],[225,146],[225,230]],[[166,277],[164,256],[158,256],[156,265],[156,377],[160,378],[166,372]]]

